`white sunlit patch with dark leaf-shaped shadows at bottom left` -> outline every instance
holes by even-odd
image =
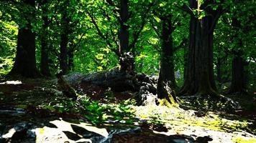
[[[92,142],[90,136],[88,139],[84,137],[86,136],[86,133],[88,135],[94,133],[99,134],[99,137],[102,137],[103,140],[104,138],[107,139],[109,137],[109,133],[105,128],[93,127],[91,124],[85,122],[75,124],[64,121],[60,118],[50,121],[50,123],[55,125],[55,127],[53,128],[45,126],[32,129],[32,131],[36,134],[36,142]],[[78,129],[78,127],[80,127],[80,129]],[[6,135],[12,135],[11,133]]]

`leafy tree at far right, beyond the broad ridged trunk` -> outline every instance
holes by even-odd
[[[247,69],[253,64],[250,61],[254,53],[252,47],[255,46],[252,39],[255,21],[250,20],[255,19],[252,14],[255,6],[251,6],[251,1],[235,1],[229,7],[228,13],[221,16],[221,23],[216,31],[219,35],[215,39],[216,43],[219,43],[216,45],[218,46],[217,63],[221,62],[225,66],[224,69],[229,70],[229,72],[225,71],[226,79],[229,73],[232,75],[231,79],[229,78],[231,81],[229,93],[246,93],[249,74]],[[219,71],[219,64],[216,64],[216,67]]]

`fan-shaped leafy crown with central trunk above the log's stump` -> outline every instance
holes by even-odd
[[[148,13],[153,3],[150,1],[145,1],[145,4],[142,4],[132,0],[106,0],[99,2],[97,9],[91,8],[93,6],[90,5],[88,8],[90,11],[88,10],[86,13],[95,26],[97,34],[106,41],[107,46],[114,51],[116,56],[121,57],[127,51],[132,51],[134,54],[134,46],[147,23]],[[100,13],[97,14],[97,12]],[[100,14],[104,16],[101,19],[106,19],[106,23],[111,23],[108,31],[101,29],[101,23],[97,21],[96,17],[99,17]],[[118,29],[117,33],[116,29]],[[118,35],[117,39],[116,34]]]

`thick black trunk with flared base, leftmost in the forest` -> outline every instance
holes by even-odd
[[[30,8],[35,8],[35,1],[23,0]],[[9,74],[19,74],[24,77],[37,77],[37,66],[35,59],[35,33],[32,32],[31,18],[35,17],[35,9],[24,12],[24,19],[27,20],[25,27],[20,26],[17,41],[17,54],[14,67]]]

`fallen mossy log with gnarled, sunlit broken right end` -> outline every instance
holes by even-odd
[[[138,105],[155,104],[157,99],[156,81],[145,74],[136,74],[119,69],[101,71],[83,77],[81,84],[93,84],[111,88],[115,92],[136,92]]]

